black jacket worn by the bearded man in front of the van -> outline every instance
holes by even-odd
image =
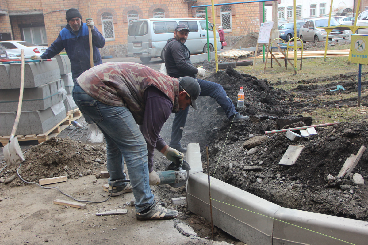
[[[198,69],[190,61],[190,51],[187,46],[175,38],[170,38],[167,40],[164,53],[166,72],[171,78],[182,76],[195,78]]]

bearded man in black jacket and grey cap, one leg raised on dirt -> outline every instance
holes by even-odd
[[[184,45],[188,38],[189,28],[185,24],[179,24],[174,30],[174,38],[167,40],[165,46],[165,66],[166,71],[172,78],[180,78],[183,76],[191,76],[196,78],[196,75],[204,76],[206,70],[203,68],[195,68],[190,61],[190,51]],[[231,121],[239,121],[248,119],[249,116],[242,116],[235,111],[233,102],[227,96],[223,87],[218,83],[209,82],[202,79],[197,79],[201,86],[201,94],[199,96],[209,96],[214,98],[217,103],[224,109],[224,112]],[[187,149],[181,147],[180,140],[183,135],[185,121],[187,120],[189,108],[184,109],[175,114],[173,127],[171,129],[170,147],[177,149],[180,152],[186,152]]]

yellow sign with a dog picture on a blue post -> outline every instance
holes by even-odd
[[[351,35],[351,63],[368,65],[368,35]]]

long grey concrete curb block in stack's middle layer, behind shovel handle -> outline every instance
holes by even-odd
[[[18,109],[20,89],[0,90],[0,112],[14,112]],[[52,106],[50,89],[47,84],[26,88],[23,93],[22,111],[45,110]]]

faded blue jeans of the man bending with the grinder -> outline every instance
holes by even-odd
[[[74,85],[73,99],[82,114],[89,116],[105,136],[109,184],[116,180],[125,180],[125,159],[136,212],[153,205],[155,196],[149,187],[147,144],[129,109],[95,100],[78,84]],[[126,183],[117,181],[112,185],[124,187]]]

